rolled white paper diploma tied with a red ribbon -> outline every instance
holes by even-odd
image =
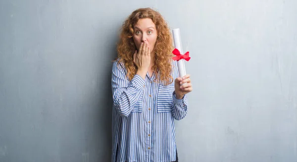
[[[184,54],[183,48],[182,48],[180,29],[179,28],[172,29],[172,35],[173,35],[174,47],[178,49],[178,51],[180,51],[181,54]],[[178,60],[177,67],[178,67],[179,76],[184,77],[186,75],[185,60],[184,59]]]

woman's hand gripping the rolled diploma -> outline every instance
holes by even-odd
[[[185,84],[184,84],[185,83]],[[187,74],[183,78],[176,78],[174,81],[175,96],[182,99],[187,93],[193,90],[190,75]]]

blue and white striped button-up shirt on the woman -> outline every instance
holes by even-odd
[[[112,66],[112,162],[174,162],[176,158],[174,119],[188,112],[187,96],[175,98],[174,81],[169,85],[144,80],[131,81],[118,59]],[[172,61],[173,79],[178,77]]]

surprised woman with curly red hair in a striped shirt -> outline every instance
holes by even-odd
[[[150,8],[122,26],[112,67],[112,162],[178,162],[174,119],[188,111],[190,76],[178,77],[170,30]],[[187,83],[187,84],[183,84]]]

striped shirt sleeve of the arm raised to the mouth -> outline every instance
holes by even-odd
[[[129,81],[123,64],[118,61],[113,63],[111,75],[114,107],[121,116],[128,116],[144,94],[145,80],[136,74]]]

